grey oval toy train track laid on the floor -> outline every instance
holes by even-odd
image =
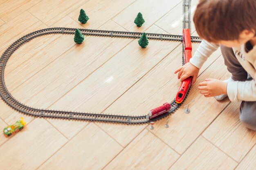
[[[184,0],[184,4],[189,2],[189,6],[186,6],[184,15],[190,15],[190,0]],[[183,5],[184,5],[183,4]],[[190,19],[190,16],[189,16]],[[188,24],[190,28],[190,23]],[[148,115],[144,116],[124,116],[124,115],[112,115],[112,114],[103,114],[103,113],[82,113],[82,112],[73,112],[73,111],[56,111],[56,110],[45,110],[29,107],[22,104],[16,98],[14,98],[8,91],[5,82],[4,82],[4,68],[7,64],[8,59],[11,57],[11,54],[17,50],[20,46],[26,42],[34,39],[36,37],[48,34],[74,34],[75,28],[46,28],[39,31],[35,31],[28,35],[25,35],[15,41],[5,52],[2,54],[0,59],[0,96],[1,98],[13,109],[25,113],[30,116],[35,117],[45,117],[45,118],[65,118],[65,119],[75,119],[75,120],[90,120],[90,121],[101,121],[101,122],[116,122],[116,123],[125,123],[125,124],[142,124],[148,123],[150,121],[159,120],[166,117],[168,114],[173,113],[180,104],[175,102],[175,99],[170,103],[171,109],[168,113],[158,116],[157,118],[149,119]],[[81,33],[84,35],[96,35],[96,36],[108,36],[108,37],[126,37],[126,38],[139,38],[142,33],[135,32],[123,32],[123,31],[103,31],[103,30],[89,30],[81,29]],[[182,35],[166,35],[166,34],[154,34],[147,33],[148,39],[158,39],[158,40],[168,40],[168,41],[182,41]],[[191,37],[192,42],[200,42],[199,37]],[[184,59],[183,59],[184,60]]]

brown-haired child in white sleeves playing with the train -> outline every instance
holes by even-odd
[[[195,83],[203,63],[220,47],[232,76],[225,81],[205,79],[199,83],[200,94],[242,100],[240,120],[256,131],[256,0],[200,0],[193,21],[203,40],[190,62],[175,74],[179,72],[180,81],[193,76]]]

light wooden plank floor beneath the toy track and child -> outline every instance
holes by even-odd
[[[192,0],[192,12],[198,0]],[[90,20],[78,22],[84,9]],[[146,22],[133,23],[138,12]],[[1,0],[0,52],[32,31],[65,26],[147,33],[182,33],[182,0]],[[195,28],[192,28],[196,35]],[[193,44],[193,52],[198,44]],[[175,98],[180,81],[180,42],[73,35],[47,35],[29,41],[9,59],[7,88],[26,105],[44,109],[143,115]],[[230,76],[220,50],[200,70],[183,107],[166,119],[121,125],[25,116],[0,100],[0,127],[24,117],[24,130],[0,135],[0,169],[255,169],[256,132],[239,121],[239,103],[204,98],[205,78]]]

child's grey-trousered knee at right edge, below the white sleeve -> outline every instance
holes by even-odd
[[[240,121],[249,129],[256,131],[256,113],[240,109]]]

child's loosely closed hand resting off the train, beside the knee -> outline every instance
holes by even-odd
[[[213,97],[221,94],[227,94],[227,83],[213,78],[206,78],[199,83],[198,89],[204,97]]]

